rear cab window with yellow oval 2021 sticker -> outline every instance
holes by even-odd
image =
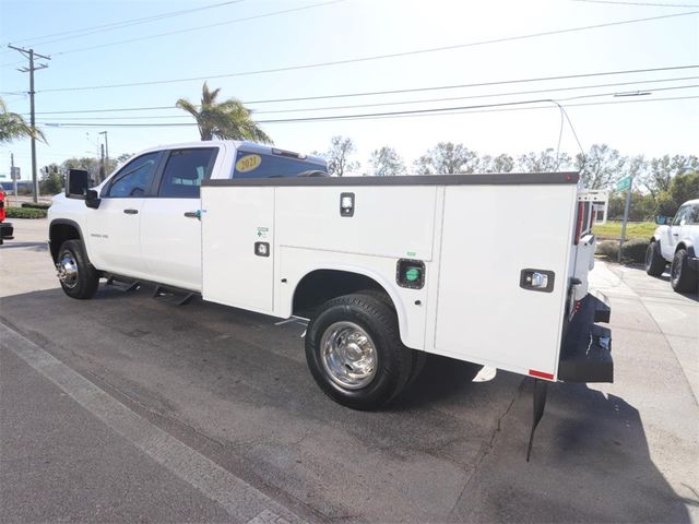
[[[232,178],[280,178],[328,176],[328,164],[318,156],[242,144],[236,153]]]

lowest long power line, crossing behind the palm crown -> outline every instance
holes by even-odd
[[[603,105],[617,105],[617,104],[635,104],[642,102],[667,102],[667,100],[685,100],[699,98],[699,95],[690,96],[676,96],[664,98],[642,98],[642,99],[625,99],[625,100],[611,100],[611,102],[588,102],[579,104],[567,104],[565,107],[579,107],[579,106],[603,106]],[[460,107],[446,107],[438,109],[417,109],[406,111],[386,111],[374,114],[360,114],[360,115],[335,115],[327,117],[305,117],[305,118],[288,118],[288,119],[270,119],[258,120],[258,123],[293,123],[293,122],[319,122],[319,121],[335,121],[335,120],[372,120],[381,118],[396,118],[396,117],[418,117],[418,116],[442,116],[442,115],[460,115],[466,112],[491,112],[497,110],[522,110],[522,109],[552,109],[555,107],[511,107],[511,106],[532,106],[534,104],[555,104],[555,100],[550,98],[542,98],[536,100],[522,100],[510,102],[500,104],[481,104],[474,106],[460,106]],[[502,108],[502,109],[498,109]],[[179,127],[192,127],[197,126],[196,122],[151,122],[151,123],[81,123],[81,122],[42,122],[49,127],[61,128],[95,128],[95,127],[111,127],[111,128],[179,128]]]

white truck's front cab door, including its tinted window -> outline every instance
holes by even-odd
[[[161,152],[154,152],[133,158],[103,188],[99,207],[90,210],[84,226],[87,253],[97,269],[147,278],[139,230],[161,157]]]

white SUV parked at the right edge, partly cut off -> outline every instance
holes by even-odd
[[[661,217],[662,221],[662,217]],[[656,221],[663,224],[665,221]],[[670,266],[676,291],[697,291],[699,282],[699,199],[682,204],[675,218],[655,229],[645,251],[645,273],[660,276]]]

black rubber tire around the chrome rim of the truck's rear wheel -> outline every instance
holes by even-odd
[[[366,384],[345,386],[333,378],[323,358],[323,336],[336,326],[352,324],[363,330],[375,348],[376,365]],[[391,401],[410,379],[412,355],[401,343],[393,308],[369,295],[354,294],[329,300],[310,320],[306,333],[306,360],[320,389],[332,400],[353,409],[376,409]]]

